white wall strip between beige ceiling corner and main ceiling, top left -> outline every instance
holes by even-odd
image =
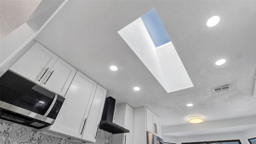
[[[9,67],[10,61],[14,61],[13,58],[24,47],[42,31],[42,29],[52,20],[52,18],[60,11],[60,9],[68,2],[68,0],[61,1],[42,1],[38,8],[34,11],[31,18],[29,18],[29,23],[24,23],[10,34],[6,35],[0,40],[0,70],[1,74],[5,72],[5,69]],[[54,6],[53,6],[54,5]],[[47,14],[45,14],[46,12]],[[44,14],[43,21],[39,21],[37,17],[42,18],[40,14]],[[39,28],[40,27],[40,28]],[[36,28],[36,29],[34,29]],[[4,69],[4,70],[2,70]]]

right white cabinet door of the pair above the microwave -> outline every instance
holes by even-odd
[[[65,96],[68,86],[70,85],[74,75],[76,74],[76,68],[58,58],[57,62],[50,69],[50,72],[46,75],[42,82],[42,86]]]

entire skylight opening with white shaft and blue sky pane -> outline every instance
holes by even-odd
[[[119,30],[118,34],[166,92],[193,87],[155,9]]]

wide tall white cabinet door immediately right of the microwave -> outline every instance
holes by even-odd
[[[84,120],[92,105],[96,87],[96,82],[77,71],[66,93],[63,106],[49,130],[81,138]]]

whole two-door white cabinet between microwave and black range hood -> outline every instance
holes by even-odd
[[[105,97],[106,89],[77,71],[56,121],[48,130],[96,142]]]

